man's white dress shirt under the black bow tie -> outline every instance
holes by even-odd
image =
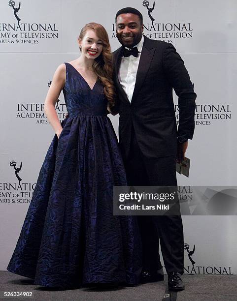
[[[134,46],[137,47],[138,51],[140,52],[140,53],[138,52],[138,57],[135,58],[132,55],[127,58],[122,57],[119,72],[118,72],[119,82],[123,87],[123,90],[127,94],[130,102],[132,100],[133,93],[134,93],[136,72],[138,69],[143,42],[144,42],[144,36],[142,35],[140,42]]]

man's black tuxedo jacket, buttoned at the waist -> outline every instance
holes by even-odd
[[[117,101],[113,114],[119,113],[119,143],[128,156],[131,129],[142,153],[148,158],[177,153],[177,137],[192,139],[196,93],[184,62],[172,44],[144,36],[132,101],[119,79],[122,47],[113,52],[114,83]],[[175,120],[172,88],[178,96],[179,125]]]

